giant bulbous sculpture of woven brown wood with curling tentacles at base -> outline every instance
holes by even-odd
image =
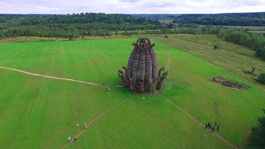
[[[153,50],[155,44],[151,44],[146,37],[139,38],[133,43],[134,50],[131,52],[127,67],[122,66],[122,70],[118,70],[124,87],[129,90],[137,90],[144,92],[148,90],[151,94],[156,93],[156,89],[160,89],[167,77],[167,71],[161,76],[164,67],[158,69],[158,61],[156,53]]]

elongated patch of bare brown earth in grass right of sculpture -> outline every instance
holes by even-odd
[[[226,80],[225,77],[223,77],[223,76],[218,76],[218,77],[214,78],[214,81],[219,82],[222,85],[225,85],[228,87],[233,87],[236,89],[249,89],[250,88],[250,86],[247,86],[245,84],[240,84],[237,82],[232,82],[232,81]]]

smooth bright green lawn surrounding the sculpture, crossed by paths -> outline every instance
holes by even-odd
[[[152,39],[151,39],[152,40]],[[0,66],[54,77],[121,85],[117,69],[126,65],[136,39],[28,42],[0,45]],[[154,41],[153,41],[154,42]],[[159,91],[201,123],[217,122],[218,132],[244,147],[251,127],[265,108],[265,94],[253,86],[234,90],[212,81],[216,76],[243,82],[237,74],[192,54],[156,43],[159,66],[172,55],[169,76]],[[168,82],[173,82],[169,85]],[[0,146],[60,148],[84,123],[89,126],[71,148],[228,148],[161,96],[29,76],[0,69]],[[80,124],[77,126],[77,124]]]

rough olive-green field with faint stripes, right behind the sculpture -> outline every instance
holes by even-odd
[[[265,71],[265,61],[255,57],[255,51],[225,42],[216,35],[169,34],[169,38],[154,36],[153,39],[162,44],[192,53],[205,61],[225,68],[227,73],[236,73],[247,82],[265,91],[265,86],[255,81]],[[214,49],[218,45],[219,49]],[[255,76],[245,73],[256,68]]]

